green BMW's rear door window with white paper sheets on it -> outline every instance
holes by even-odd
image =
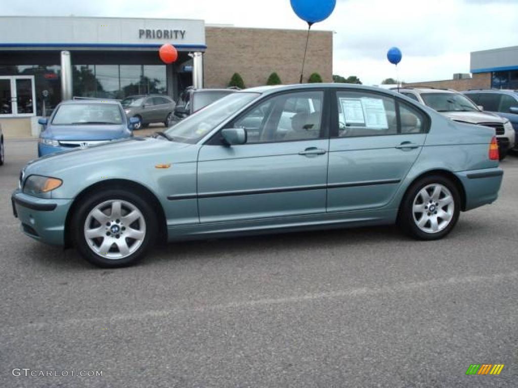
[[[338,92],[338,137],[397,134],[393,98],[374,93]]]

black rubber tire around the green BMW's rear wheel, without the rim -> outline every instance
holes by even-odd
[[[448,225],[444,229],[434,233],[425,232],[421,230],[418,227],[418,225],[416,225],[416,221],[414,220],[414,214],[412,210],[414,200],[418,196],[418,193],[429,185],[442,185],[445,188],[447,188],[450,191],[451,196],[453,197],[454,205],[453,214]],[[415,238],[416,240],[439,240],[440,238],[444,237],[452,231],[452,229],[455,227],[455,224],[457,223],[460,213],[461,196],[459,195],[459,191],[455,183],[452,182],[450,178],[442,175],[429,175],[422,177],[420,180],[414,182],[408,188],[407,192],[405,193],[405,196],[403,197],[403,200],[401,201],[401,205],[399,206],[397,223],[399,227],[402,229],[402,231],[404,231],[410,237]]]

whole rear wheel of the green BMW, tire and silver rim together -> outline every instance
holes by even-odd
[[[407,191],[398,215],[400,227],[420,240],[438,240],[454,228],[461,211],[456,185],[441,175],[427,176]]]

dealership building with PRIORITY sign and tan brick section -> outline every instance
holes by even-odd
[[[271,72],[297,83],[306,31],[205,25],[203,20],[0,17],[0,125],[6,137],[29,137],[37,118],[63,98],[173,98],[188,86],[225,87],[238,72],[247,87]],[[179,57],[158,54],[173,44]],[[312,31],[305,78],[332,81],[333,33]],[[64,95],[63,95],[64,94]]]

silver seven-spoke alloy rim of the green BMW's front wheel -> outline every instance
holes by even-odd
[[[118,260],[132,255],[142,245],[146,221],[130,202],[110,200],[90,211],[83,233],[88,246],[97,255]]]

